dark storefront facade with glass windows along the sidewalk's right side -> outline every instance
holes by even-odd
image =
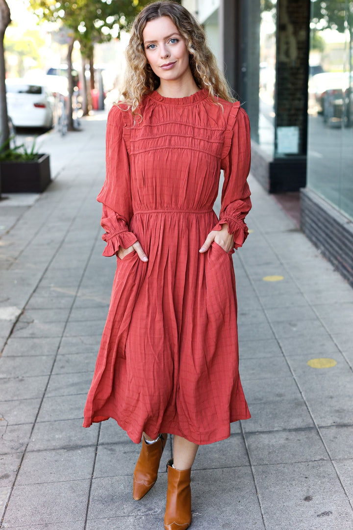
[[[353,285],[353,2],[224,0],[224,63],[252,173],[301,190],[301,227]]]

